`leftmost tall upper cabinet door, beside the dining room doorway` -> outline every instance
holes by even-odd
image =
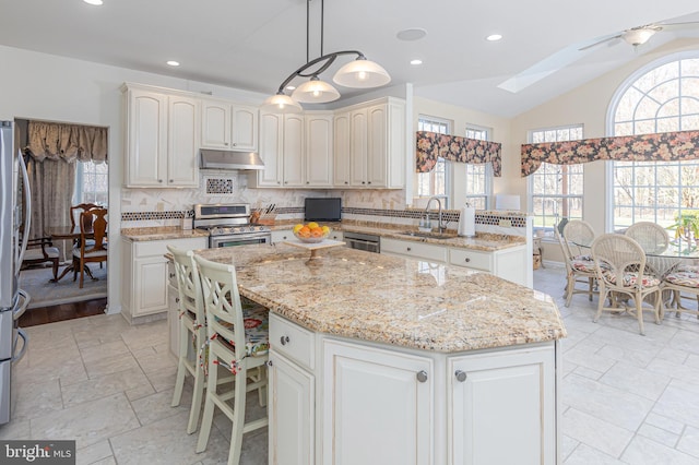
[[[129,187],[164,187],[167,158],[167,96],[128,92]]]

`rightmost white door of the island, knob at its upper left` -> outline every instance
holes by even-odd
[[[448,367],[450,464],[556,463],[553,343],[453,357]]]

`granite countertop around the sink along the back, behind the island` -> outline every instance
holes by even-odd
[[[298,222],[285,222],[279,225],[271,226],[273,230],[291,229]],[[410,240],[414,242],[426,242],[438,246],[455,247],[460,249],[481,250],[485,252],[495,252],[497,250],[509,249],[518,246],[525,246],[526,239],[521,236],[498,235],[478,233],[476,237],[459,237],[453,229],[447,229],[446,235],[448,238],[436,237],[418,237],[408,236],[405,231],[417,231],[417,228],[406,225],[389,225],[389,224],[376,224],[376,225],[362,225],[353,222],[342,223],[323,223],[330,226],[334,230],[352,231],[370,234],[380,237],[390,237],[400,240]]]

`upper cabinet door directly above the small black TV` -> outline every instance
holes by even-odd
[[[307,115],[306,186],[332,187],[332,115]]]

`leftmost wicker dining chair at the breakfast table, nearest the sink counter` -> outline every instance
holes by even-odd
[[[589,250],[583,250],[581,243],[592,243],[594,240],[594,230],[589,223],[572,219],[564,226],[562,234],[558,228],[554,231],[558,238],[558,243],[564,253],[564,263],[566,264],[566,307],[570,307],[570,300],[573,294],[587,294],[592,300],[595,294],[596,273],[594,261]],[[579,289],[577,284],[587,285],[587,289]]]

